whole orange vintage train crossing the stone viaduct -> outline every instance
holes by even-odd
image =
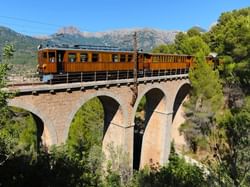
[[[87,81],[117,78],[117,75],[119,78],[131,78],[135,68],[138,77],[163,72],[187,73],[194,61],[192,55],[135,52],[108,46],[39,46],[37,70],[43,82],[77,78]],[[212,56],[207,57],[207,61],[215,63]]]

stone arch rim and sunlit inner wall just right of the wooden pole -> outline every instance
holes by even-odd
[[[140,168],[150,162],[163,164],[165,154],[165,131],[167,130],[167,97],[161,86],[146,87],[133,108],[132,120],[143,96],[146,96],[145,131],[142,138]],[[135,168],[135,167],[134,167]]]

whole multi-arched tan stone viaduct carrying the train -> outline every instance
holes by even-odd
[[[10,106],[30,111],[42,124],[43,144],[67,140],[71,121],[87,101],[98,97],[104,109],[103,150],[113,143],[129,154],[133,163],[134,121],[137,107],[146,96],[146,129],[142,139],[140,167],[149,161],[163,164],[170,152],[171,125],[189,91],[188,75],[138,79],[138,96],[131,106],[133,80],[21,86]]]

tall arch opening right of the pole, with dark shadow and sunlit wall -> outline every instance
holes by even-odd
[[[160,161],[165,113],[166,97],[160,89],[153,88],[140,99],[134,118],[133,169],[138,170],[150,162]]]

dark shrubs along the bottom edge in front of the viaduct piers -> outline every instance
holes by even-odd
[[[65,146],[42,150],[37,159],[30,162],[28,155],[15,155],[1,166],[0,184],[2,186],[133,186],[133,187],[171,187],[171,186],[209,186],[211,180],[203,169],[188,164],[177,155],[170,157],[166,166],[150,165],[132,178],[122,181],[118,171],[108,166],[106,171],[95,173],[89,163],[73,160]],[[39,182],[38,182],[39,181]],[[209,183],[208,183],[209,182]]]

